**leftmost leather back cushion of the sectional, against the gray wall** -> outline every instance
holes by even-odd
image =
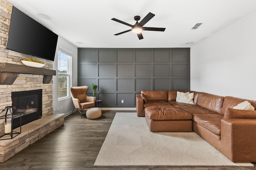
[[[141,94],[144,94],[146,100],[161,100],[168,101],[167,90],[142,90]]]

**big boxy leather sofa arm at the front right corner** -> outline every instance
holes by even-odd
[[[222,119],[220,151],[232,162],[256,162],[256,119]]]

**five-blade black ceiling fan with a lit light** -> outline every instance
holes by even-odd
[[[111,20],[113,21],[116,21],[116,22],[119,22],[119,23],[122,23],[124,25],[128,25],[130,27],[132,27],[131,29],[128,29],[126,31],[123,31],[123,32],[120,32],[120,33],[117,33],[117,34],[114,34],[114,35],[120,35],[122,33],[127,33],[129,31],[132,31],[133,33],[136,33],[138,35],[138,38],[139,39],[143,39],[143,36],[142,36],[142,31],[164,31],[165,28],[156,28],[156,27],[143,27],[143,25],[145,25],[149,20],[151,20],[153,17],[155,16],[155,14],[152,14],[151,12],[148,13],[148,15],[146,15],[141,21],[140,23],[138,22],[138,20],[140,20],[140,16],[135,16],[134,17],[134,20],[136,21],[136,23],[134,25],[131,25],[129,23],[126,23],[124,21],[120,21],[116,18],[112,18]]]

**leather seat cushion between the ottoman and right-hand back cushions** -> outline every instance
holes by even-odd
[[[208,110],[208,109],[198,106],[198,105],[179,104],[176,107],[179,107],[192,115],[194,115],[194,114],[217,114],[215,111]]]

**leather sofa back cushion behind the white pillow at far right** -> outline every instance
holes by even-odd
[[[241,98],[235,98],[232,96],[226,96],[223,102],[223,107],[221,114],[225,114],[228,108],[233,108],[234,106],[237,106],[238,104],[246,101],[246,99],[241,99]],[[251,103],[251,105],[256,108],[256,101],[254,100],[247,100],[248,102]]]

